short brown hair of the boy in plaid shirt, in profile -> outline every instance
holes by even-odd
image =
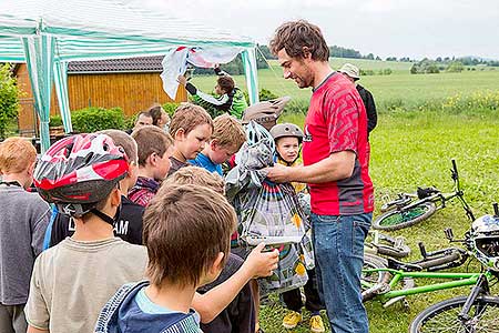
[[[133,131],[132,138],[136,142],[139,165],[141,167],[145,167],[145,161],[152,153],[163,157],[173,145],[172,137],[155,125],[145,125]]]

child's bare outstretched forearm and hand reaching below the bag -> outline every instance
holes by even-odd
[[[192,306],[200,313],[203,323],[213,321],[235,299],[244,285],[257,276],[269,276],[277,269],[279,252],[262,252],[265,244],[256,246],[241,269],[227,281],[205,294],[196,293]]]

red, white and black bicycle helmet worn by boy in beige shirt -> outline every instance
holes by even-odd
[[[61,213],[81,218],[108,198],[129,170],[126,154],[105,134],[78,134],[54,143],[33,174],[38,192]],[[110,216],[108,216],[111,219]],[[105,218],[104,221],[111,223]]]

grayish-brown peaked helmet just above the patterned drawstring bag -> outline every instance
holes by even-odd
[[[263,101],[255,103],[244,110],[243,124],[249,123],[249,121],[256,121],[263,125],[266,130],[271,130],[284,111],[284,107],[289,102],[291,97],[282,97],[275,100]]]

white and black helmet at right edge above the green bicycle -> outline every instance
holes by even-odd
[[[471,225],[471,239],[477,259],[499,272],[499,216],[478,218]]]

